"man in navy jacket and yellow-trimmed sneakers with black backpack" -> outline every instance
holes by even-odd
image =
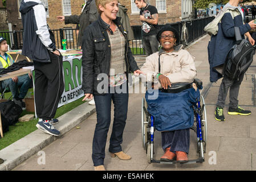
[[[222,69],[226,60],[226,56],[229,53],[231,47],[235,44],[234,27],[239,27],[242,38],[245,35],[249,39],[249,42],[254,45],[255,41],[251,38],[249,31],[256,28],[256,24],[253,20],[249,23],[243,24],[243,12],[238,3],[243,0],[230,0],[222,10],[225,12],[218,23],[218,34],[212,35],[208,44],[208,59],[210,64],[210,81],[216,82],[222,77]],[[222,12],[221,11],[221,12]],[[218,101],[215,110],[215,119],[217,121],[225,121],[223,108],[225,106],[225,100],[227,92],[229,90],[229,111],[228,114],[232,115],[249,115],[251,111],[244,110],[238,105],[238,93],[239,87],[243,80],[243,75],[239,77],[239,81],[230,80],[224,75],[222,79],[220,90],[218,92]]]

